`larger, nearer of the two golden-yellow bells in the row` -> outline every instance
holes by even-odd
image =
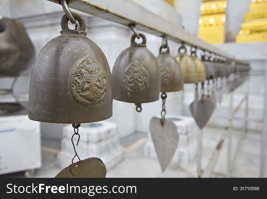
[[[181,51],[184,50],[184,53]],[[186,48],[182,45],[179,48],[179,54],[175,57],[178,63],[180,64],[183,76],[184,83],[198,83],[198,71],[193,59],[186,54]]]

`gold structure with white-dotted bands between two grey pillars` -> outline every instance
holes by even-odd
[[[202,0],[198,37],[211,43],[224,43],[226,0]]]

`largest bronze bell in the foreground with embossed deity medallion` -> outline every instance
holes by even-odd
[[[29,119],[51,123],[89,123],[112,116],[112,84],[101,49],[86,37],[86,23],[75,30],[61,19],[61,35],[39,52],[29,88]]]

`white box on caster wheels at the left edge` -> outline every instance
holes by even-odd
[[[0,174],[41,167],[40,123],[28,115],[0,117]]]

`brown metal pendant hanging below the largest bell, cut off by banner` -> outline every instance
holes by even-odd
[[[106,177],[106,166],[99,158],[87,158],[69,165],[56,177]]]

